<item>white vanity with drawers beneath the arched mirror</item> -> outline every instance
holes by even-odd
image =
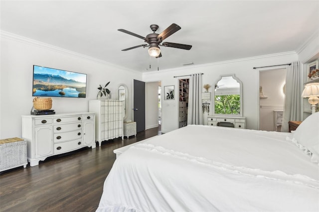
[[[207,124],[209,126],[231,127],[245,129],[246,117],[240,116],[208,116]]]

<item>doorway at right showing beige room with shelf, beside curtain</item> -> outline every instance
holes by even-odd
[[[286,68],[259,71],[259,130],[281,131]]]

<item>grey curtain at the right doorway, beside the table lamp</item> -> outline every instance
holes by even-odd
[[[289,121],[300,121],[301,119],[301,68],[299,61],[293,62],[287,68],[285,107],[281,132],[288,132]]]

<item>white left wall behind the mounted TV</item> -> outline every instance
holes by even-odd
[[[21,115],[30,114],[33,105],[33,65],[87,74],[86,98],[52,97],[57,114],[88,111],[88,101],[96,99],[97,87],[108,81],[113,99],[121,83],[128,86],[129,108],[133,107],[132,79],[141,80],[140,72],[3,32],[0,42],[0,139],[21,137]],[[132,119],[132,110],[128,112]]]

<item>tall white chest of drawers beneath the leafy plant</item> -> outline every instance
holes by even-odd
[[[102,141],[122,137],[123,135],[123,101],[90,100],[89,111],[96,114],[95,138],[101,146]]]

